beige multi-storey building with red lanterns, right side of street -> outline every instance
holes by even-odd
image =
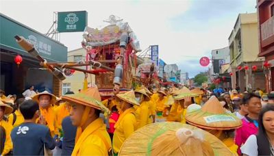
[[[262,70],[264,57],[258,57],[258,17],[257,13],[239,14],[229,36],[230,67],[232,88],[240,87],[240,92],[261,88],[265,79]],[[247,66],[247,68],[244,68]],[[257,66],[257,70],[251,70]],[[256,82],[256,83],[255,83]]]

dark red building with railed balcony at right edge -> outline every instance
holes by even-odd
[[[274,1],[258,0],[259,57],[265,57],[271,68],[265,70],[266,91],[274,89]]]

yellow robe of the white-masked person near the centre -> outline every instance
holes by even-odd
[[[136,110],[137,129],[144,127],[150,123],[149,118],[149,101],[143,101]]]

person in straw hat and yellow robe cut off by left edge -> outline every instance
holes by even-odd
[[[5,129],[5,143],[3,153],[1,153],[1,155],[7,155],[10,151],[12,151],[12,139],[10,138],[10,133],[12,132],[13,127],[4,119],[4,116],[8,116],[8,114],[11,114],[12,111],[13,108],[10,107],[10,105],[0,101],[0,126]]]

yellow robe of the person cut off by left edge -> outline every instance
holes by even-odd
[[[5,120],[0,121],[0,126],[5,129],[5,145],[1,155],[6,155],[12,150],[12,138],[10,137],[10,133],[12,132],[13,127]]]

